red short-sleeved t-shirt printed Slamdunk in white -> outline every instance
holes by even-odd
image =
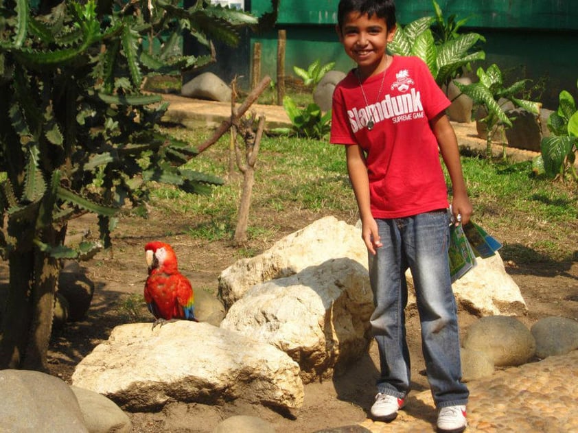
[[[367,103],[353,71],[336,86],[330,142],[364,150],[374,218],[446,208],[448,189],[429,120],[450,101],[417,57],[394,56],[385,74],[362,84]]]

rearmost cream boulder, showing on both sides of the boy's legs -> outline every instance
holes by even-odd
[[[301,272],[308,266],[330,259],[347,257],[367,269],[367,249],[356,226],[330,216],[313,222],[304,229],[280,239],[261,255],[241,259],[221,272],[219,294],[229,308],[257,283]],[[526,314],[526,302],[520,288],[506,273],[498,253],[477,259],[477,266],[453,285],[456,302],[476,316],[516,316]],[[360,275],[360,278],[368,278]],[[415,305],[411,272],[408,280],[408,307]]]

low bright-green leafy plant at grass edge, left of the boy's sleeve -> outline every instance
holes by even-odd
[[[323,113],[317,104],[308,104],[299,108],[290,96],[283,98],[283,107],[292,127],[274,128],[273,134],[294,135],[310,139],[323,139],[331,130],[331,110]]]

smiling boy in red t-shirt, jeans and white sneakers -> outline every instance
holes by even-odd
[[[381,374],[371,417],[392,421],[410,385],[404,307],[411,270],[437,428],[462,432],[469,392],[461,382],[459,328],[450,281],[448,191],[456,221],[470,219],[450,105],[423,61],[389,56],[393,0],[341,0],[339,40],[357,64],[336,86],[331,143],[345,145],[347,171],[369,251],[371,328]]]

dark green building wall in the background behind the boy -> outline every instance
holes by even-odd
[[[578,0],[437,0],[444,16],[470,17],[464,30],[482,34],[485,62],[496,63],[512,79],[545,79],[542,102],[557,107],[562,89],[576,94],[578,80]],[[246,5],[255,16],[270,11],[270,0]],[[343,53],[335,32],[338,0],[280,0],[277,25],[266,34],[248,36],[247,65],[236,67],[250,74],[253,44],[262,44],[262,75],[277,76],[277,34],[286,30],[286,75],[293,66],[308,67],[314,60],[336,62],[334,69],[348,71],[354,63]],[[398,0],[397,21],[405,25],[434,14],[430,0]],[[247,80],[248,82],[248,80]]]

